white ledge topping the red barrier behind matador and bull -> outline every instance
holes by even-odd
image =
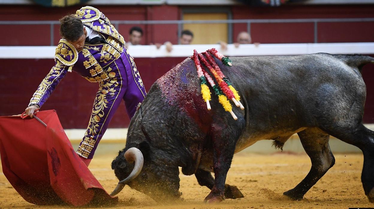
[[[206,49],[220,49],[219,44],[173,45],[167,52],[165,45],[157,49],[155,45],[129,46],[128,51],[134,58],[188,57],[194,49],[204,52]],[[0,59],[48,59],[55,55],[55,46],[0,46]],[[362,43],[286,43],[286,44],[241,44],[236,48],[228,44],[222,51],[226,56],[269,56],[269,55],[305,55],[325,52],[331,54],[374,54],[374,42]]]

